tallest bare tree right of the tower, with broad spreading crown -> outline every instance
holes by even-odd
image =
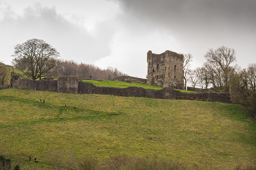
[[[233,48],[221,46],[217,49],[208,49],[204,55],[206,62],[213,65],[218,73],[220,88],[228,85],[231,64],[236,61],[236,51]],[[223,78],[222,81],[220,81]]]

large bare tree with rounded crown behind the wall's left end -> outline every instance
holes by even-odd
[[[33,80],[48,76],[60,63],[58,51],[43,40],[31,39],[14,47],[13,64]]]

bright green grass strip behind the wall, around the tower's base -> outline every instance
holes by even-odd
[[[105,86],[105,87],[120,87],[120,88],[126,88],[129,86],[136,86],[136,87],[143,87],[144,89],[156,89],[160,90],[163,89],[163,87],[155,86],[155,85],[144,85],[140,83],[126,83],[121,81],[110,81],[110,80],[102,80],[102,81],[94,81],[94,80],[82,80],[83,82],[89,82],[96,86]],[[188,93],[196,93],[194,91],[187,91],[187,90],[179,90],[181,92],[188,92]]]

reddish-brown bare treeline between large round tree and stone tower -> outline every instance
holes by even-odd
[[[101,69],[93,64],[76,63],[73,60],[65,60],[60,64],[59,72],[60,75],[77,75],[79,77],[89,78],[92,75],[93,79],[104,79],[111,80],[115,77],[127,75],[122,73],[117,68],[108,66],[106,69]]]

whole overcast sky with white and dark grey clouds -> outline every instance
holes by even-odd
[[[191,53],[195,68],[224,45],[244,68],[256,63],[255,18],[256,0],[0,0],[0,61],[36,38],[62,59],[141,78],[149,50]]]

